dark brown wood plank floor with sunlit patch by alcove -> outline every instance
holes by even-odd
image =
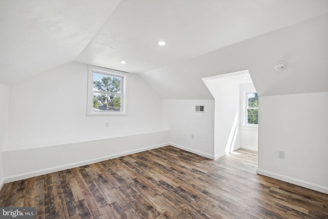
[[[256,175],[257,153],[209,160],[163,147],[7,183],[37,218],[328,218],[328,195]]]

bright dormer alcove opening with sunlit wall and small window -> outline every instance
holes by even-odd
[[[215,159],[238,148],[257,151],[258,124],[255,124],[257,121],[254,119],[247,119],[250,112],[253,113],[253,117],[256,114],[254,103],[257,96],[249,71],[238,71],[202,79],[215,99]],[[253,93],[253,96],[248,93]],[[254,98],[248,98],[249,96]],[[249,99],[253,103],[251,106],[248,105]]]

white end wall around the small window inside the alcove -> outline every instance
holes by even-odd
[[[244,125],[244,93],[256,91],[253,83],[240,85],[240,147],[257,151],[258,127]]]

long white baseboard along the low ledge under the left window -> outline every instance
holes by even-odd
[[[93,164],[93,163],[97,163],[97,162],[101,162],[101,161],[110,160],[112,158],[116,158],[116,157],[120,157],[120,156],[126,156],[126,155],[134,154],[134,153],[139,153],[139,152],[142,152],[142,151],[148,151],[148,150],[151,150],[151,149],[161,148],[161,147],[165,147],[165,146],[169,146],[169,145],[170,145],[170,143],[154,145],[154,146],[151,146],[151,147],[139,148],[139,149],[136,149],[136,150],[117,153],[117,154],[113,154],[113,155],[109,155],[109,156],[103,156],[103,157],[99,157],[99,158],[95,158],[95,159],[87,160],[87,161],[83,161],[83,162],[76,162],[76,163],[72,163],[72,164],[57,166],[57,167],[48,168],[48,169],[42,169],[42,170],[28,172],[28,173],[24,173],[24,174],[17,174],[17,175],[5,177],[3,182],[10,183],[10,182],[18,181],[18,180],[24,180],[25,178],[30,178],[30,177],[34,177],[34,176],[43,175],[43,174],[53,173],[53,172],[57,172],[57,171],[61,171],[61,170],[67,170],[67,169],[80,167],[80,166],[84,166],[84,165],[89,165],[89,164]]]

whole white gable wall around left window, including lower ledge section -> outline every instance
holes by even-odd
[[[87,76],[70,63],[10,87],[5,182],[168,145],[162,99],[138,75],[128,115],[100,116],[87,115]]]

